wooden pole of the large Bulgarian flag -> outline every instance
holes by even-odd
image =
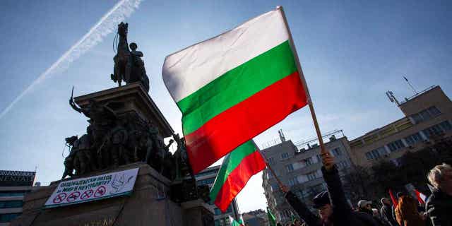
[[[290,42],[290,45],[292,46],[292,50],[294,52],[295,63],[297,64],[299,77],[302,80],[304,92],[306,92],[307,102],[309,105],[309,111],[311,112],[311,117],[312,117],[312,120],[314,121],[314,128],[316,129],[317,138],[319,138],[319,145],[320,145],[320,150],[321,150],[320,153],[321,153],[321,155],[325,155],[327,153],[326,148],[325,148],[325,145],[323,144],[323,138],[321,135],[319,123],[317,122],[316,112],[314,111],[314,105],[312,104],[311,95],[309,95],[308,86],[307,86],[306,80],[304,79],[302,65],[299,63],[297,49],[295,48],[294,40],[292,38],[292,32],[290,32],[289,24],[287,23],[287,18],[285,17],[283,6],[276,6],[276,9],[278,9],[281,12],[281,14],[283,15],[285,27],[287,28],[287,32],[289,33],[289,42]]]

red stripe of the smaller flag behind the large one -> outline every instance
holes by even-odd
[[[261,172],[265,167],[266,163],[258,151],[244,157],[242,162],[229,174],[220,191],[218,191],[214,202],[215,206],[224,213],[232,199],[242,191],[249,179],[254,174]]]

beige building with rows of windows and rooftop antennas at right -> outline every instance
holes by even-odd
[[[395,102],[405,117],[350,141],[355,165],[370,167],[383,160],[398,165],[408,151],[451,137],[452,102],[439,86]]]

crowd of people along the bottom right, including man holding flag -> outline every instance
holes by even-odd
[[[443,163],[430,170],[427,179],[432,185],[432,194],[424,205],[417,198],[399,192],[394,203],[390,198],[381,198],[381,208],[378,210],[372,208],[376,205],[371,201],[364,199],[357,203],[356,208],[352,208],[345,198],[333,156],[326,152],[321,157],[327,190],[313,199],[313,207],[318,210],[318,215],[312,213],[287,186],[281,187],[287,202],[301,218],[288,223],[288,226],[452,226],[451,165]]]

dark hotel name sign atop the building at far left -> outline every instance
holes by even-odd
[[[33,186],[36,172],[0,170],[0,186]]]

